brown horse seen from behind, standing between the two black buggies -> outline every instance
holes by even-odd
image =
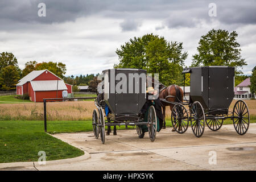
[[[177,85],[170,85],[168,87],[164,86],[159,91],[159,98],[163,98],[169,102],[183,102],[183,90],[180,88],[180,86]],[[168,104],[166,102],[162,102],[162,109],[163,109],[163,129],[166,128],[166,107],[170,106],[170,110],[172,111],[172,108],[174,107],[174,104]],[[173,129],[174,131],[174,129]]]

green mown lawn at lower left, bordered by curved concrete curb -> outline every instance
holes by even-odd
[[[84,152],[44,133],[43,121],[0,121],[0,163],[74,158]]]

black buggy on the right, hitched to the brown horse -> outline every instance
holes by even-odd
[[[184,68],[185,74],[190,73],[189,101],[163,102],[174,104],[171,121],[177,133],[184,133],[189,122],[196,137],[204,133],[205,123],[212,131],[221,128],[224,119],[232,119],[237,133],[244,135],[250,123],[250,115],[244,101],[238,100],[229,111],[234,98],[234,68],[233,67],[195,67]],[[185,92],[184,92],[185,95]],[[187,110],[185,105],[189,107]],[[188,113],[189,111],[189,113]]]

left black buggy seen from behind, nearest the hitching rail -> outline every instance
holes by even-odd
[[[140,138],[144,137],[143,127],[146,127],[150,140],[153,142],[156,138],[156,131],[159,131],[155,107],[149,106],[146,116],[141,113],[147,101],[147,72],[143,69],[107,69],[102,73],[104,94],[94,101],[97,107],[93,110],[92,117],[94,137],[98,138],[100,135],[102,143],[105,143],[105,126],[125,125],[136,126]],[[117,90],[114,92],[112,90],[118,86],[119,81],[115,80],[118,74],[127,78],[127,87],[122,88],[126,92],[118,93]],[[134,78],[134,75],[139,77]],[[129,81],[132,81],[132,84],[129,84]],[[137,90],[136,86],[138,86]]]

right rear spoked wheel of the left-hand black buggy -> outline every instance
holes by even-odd
[[[157,119],[155,113],[155,107],[150,106],[147,114],[147,122],[148,122],[148,135],[150,137],[151,142],[154,142],[156,138],[156,131],[158,130],[157,127]]]

